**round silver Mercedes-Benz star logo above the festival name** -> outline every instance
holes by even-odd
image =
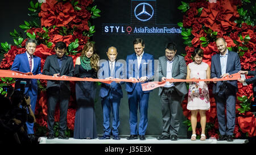
[[[138,20],[146,22],[154,15],[154,9],[148,3],[139,3],[134,9],[134,15]]]

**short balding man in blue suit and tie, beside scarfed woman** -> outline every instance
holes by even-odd
[[[98,72],[98,78],[101,79],[112,79],[112,78],[123,78],[125,76],[125,65],[120,61],[115,61],[117,58],[117,48],[110,47],[106,52],[109,60],[101,62],[101,69]],[[110,139],[110,113],[112,111],[112,134],[114,140],[120,140],[118,127],[119,121],[119,104],[123,97],[121,84],[123,82],[112,82],[110,84],[102,83],[100,90],[101,105],[103,110],[103,126],[104,134],[100,139]]]

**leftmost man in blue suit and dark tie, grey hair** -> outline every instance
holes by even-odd
[[[33,75],[42,74],[41,73],[41,58],[34,56],[36,49],[36,40],[28,39],[26,41],[25,53],[16,55],[11,70],[16,70],[23,73],[32,72]],[[36,99],[38,97],[38,83],[37,79],[17,79],[15,82],[15,89],[20,90],[20,81],[26,81],[24,95],[30,97],[31,100],[31,109],[35,112]],[[27,133],[29,137],[34,135],[34,123],[27,124]]]

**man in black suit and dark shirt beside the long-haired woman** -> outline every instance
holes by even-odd
[[[69,76],[74,73],[74,64],[72,57],[66,56],[67,46],[64,42],[59,41],[55,44],[56,55],[46,58],[44,63],[43,74],[53,77]],[[59,139],[68,139],[65,136],[67,128],[67,112],[70,95],[69,81],[47,81],[48,97],[48,136],[47,139],[54,139],[55,133],[53,125],[55,123],[54,114],[57,102],[60,102],[60,129]]]

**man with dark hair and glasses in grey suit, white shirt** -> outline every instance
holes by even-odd
[[[187,77],[187,65],[184,57],[176,55],[176,52],[176,45],[168,43],[166,55],[159,57],[159,81],[173,78],[185,79]],[[177,140],[180,127],[178,107],[187,93],[185,82],[166,82],[164,87],[159,87],[162,102],[163,132],[156,139]]]

